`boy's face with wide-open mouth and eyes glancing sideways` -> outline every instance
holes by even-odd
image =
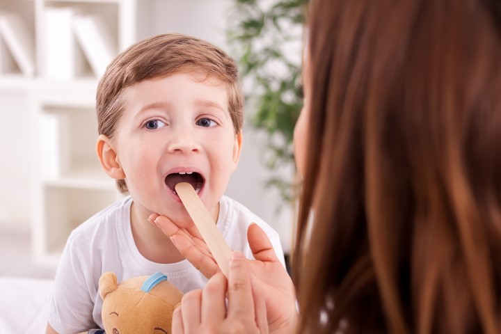
[[[184,181],[216,216],[241,149],[223,81],[177,73],[142,81],[124,93],[113,145],[134,205],[188,227],[191,218],[173,191]]]

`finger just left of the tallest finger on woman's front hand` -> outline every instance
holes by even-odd
[[[219,324],[226,316],[226,278],[219,272],[202,290],[202,323]]]

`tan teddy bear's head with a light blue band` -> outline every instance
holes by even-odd
[[[117,284],[115,273],[108,271],[99,287],[106,334],[171,334],[173,311],[183,294],[163,273]]]

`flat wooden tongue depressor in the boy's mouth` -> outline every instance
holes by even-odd
[[[221,268],[224,276],[228,278],[228,264],[232,257],[232,250],[226,244],[223,234],[219,232],[209,211],[191,184],[180,182],[175,185],[175,191],[177,196],[181,198],[186,211],[188,211],[191,219],[193,219],[198,231],[202,234],[205,244],[209,247],[219,268]]]

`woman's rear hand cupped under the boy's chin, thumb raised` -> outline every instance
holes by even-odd
[[[214,257],[196,228],[180,229],[165,216],[150,216],[189,262],[207,278],[220,272]],[[252,273],[253,289],[263,296],[271,333],[293,333],[296,325],[296,294],[287,271],[276,257],[267,234],[251,224],[247,231],[250,250],[255,260],[247,260]]]

